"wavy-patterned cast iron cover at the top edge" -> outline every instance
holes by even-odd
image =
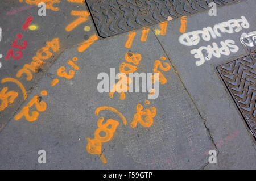
[[[244,0],[85,0],[98,35],[109,37]]]

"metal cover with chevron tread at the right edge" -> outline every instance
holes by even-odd
[[[217,66],[217,71],[256,141],[256,54]]]

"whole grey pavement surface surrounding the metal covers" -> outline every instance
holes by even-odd
[[[46,16],[28,2],[0,2],[0,91],[7,87],[0,93],[0,169],[256,169],[254,138],[215,69],[251,53],[240,37],[256,31],[254,0],[218,7],[217,16],[189,15],[183,33],[177,18],[105,39],[97,36],[83,1],[56,1]],[[23,30],[30,16],[32,26]],[[207,41],[201,36],[193,45],[181,41],[185,33],[232,19],[244,23],[241,29],[233,24],[234,31],[219,31]],[[9,49],[18,50],[12,48],[18,33],[27,46],[22,56],[6,60]],[[198,62],[191,53],[226,40],[234,41],[228,54]],[[129,63],[127,52],[141,58]],[[98,74],[110,78],[110,69],[119,73],[123,63],[138,73],[158,68],[163,76],[158,98],[98,92]],[[150,112],[150,127],[131,126],[138,105]],[[118,125],[93,154],[88,140],[100,117]],[[39,150],[46,151],[45,164],[38,163]],[[209,163],[209,150],[217,151],[217,163]]]

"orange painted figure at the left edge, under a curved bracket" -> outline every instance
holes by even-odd
[[[3,87],[3,89],[0,91],[0,111],[5,110],[6,107],[8,107],[8,104],[12,104],[16,97],[18,97],[18,93],[14,91],[9,91],[6,93],[8,90],[7,87]]]

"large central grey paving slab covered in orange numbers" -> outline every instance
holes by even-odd
[[[127,93],[124,100],[119,100],[118,93],[110,98],[109,93],[97,91],[98,74],[110,74],[110,68],[118,73],[127,52],[141,54],[138,73],[151,73],[155,60],[166,56],[154,33],[150,31],[145,42],[141,41],[141,35],[141,30],[137,31],[130,48],[125,48],[127,34],[124,34],[98,40],[82,53],[77,52],[76,47],[65,50],[23,104],[27,105],[34,96],[46,90],[47,96],[40,95],[41,102],[47,104],[46,110],[39,112],[34,122],[24,117],[18,121],[12,119],[0,132],[0,168],[200,169],[205,165],[208,162],[205,152],[213,144],[174,69],[163,71],[167,83],[159,85],[157,99],[148,99],[147,93]],[[67,60],[73,57],[78,58],[75,63],[80,68],[74,77],[58,77],[56,71],[61,66],[72,70]],[[162,61],[170,64],[168,59]],[[53,78],[59,78],[59,83],[51,87]],[[145,100],[150,100],[150,104],[146,105]],[[151,127],[144,128],[140,124],[130,127],[138,104],[147,109],[156,108]],[[102,106],[117,109],[126,118],[127,125],[109,110],[100,111],[96,116],[94,111]],[[31,107],[30,111],[35,108]],[[106,164],[98,155],[86,151],[86,138],[93,139],[100,116],[119,123],[112,139],[103,142],[100,149]],[[38,151],[41,149],[46,150],[47,163],[39,165]]]

